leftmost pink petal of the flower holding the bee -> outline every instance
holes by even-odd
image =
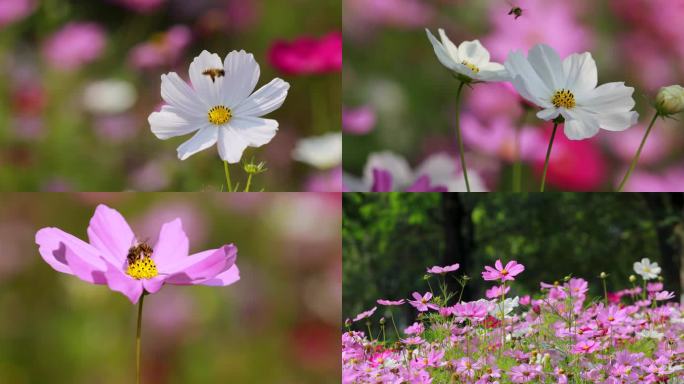
[[[59,272],[73,275],[76,272],[82,274],[84,269],[91,271],[104,271],[106,269],[97,249],[59,228],[39,230],[36,233],[36,244],[39,246],[38,251],[43,260]],[[75,266],[78,271],[72,270],[74,266],[70,264],[70,260],[67,260],[67,253],[71,253],[71,261],[78,263]],[[77,274],[77,276],[79,275]]]

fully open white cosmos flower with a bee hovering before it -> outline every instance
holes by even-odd
[[[252,93],[260,69],[251,53],[233,51],[222,62],[202,51],[189,72],[192,86],[175,72],[162,75],[167,105],[148,118],[152,133],[162,140],[196,132],[178,147],[179,159],[217,144],[221,159],[237,163],[247,147],[260,147],[275,136],[278,122],[262,116],[280,108],[290,84],[276,78]]]

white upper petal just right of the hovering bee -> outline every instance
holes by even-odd
[[[254,91],[261,70],[254,55],[245,51],[229,53],[223,69],[226,78],[223,80],[222,99],[228,108],[233,109]]]

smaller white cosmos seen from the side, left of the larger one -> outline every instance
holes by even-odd
[[[432,43],[437,59],[445,67],[457,74],[480,81],[504,81],[508,73],[503,65],[489,61],[489,51],[479,40],[464,41],[458,47],[449,40],[443,29],[439,29],[440,43],[435,36],[425,29]]]

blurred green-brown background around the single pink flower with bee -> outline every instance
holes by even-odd
[[[0,382],[130,383],[137,306],[58,273],[38,229],[82,239],[97,204],[154,242],[180,217],[198,252],[238,247],[228,287],[164,286],[145,300],[144,383],[339,383],[339,194],[0,194]]]

